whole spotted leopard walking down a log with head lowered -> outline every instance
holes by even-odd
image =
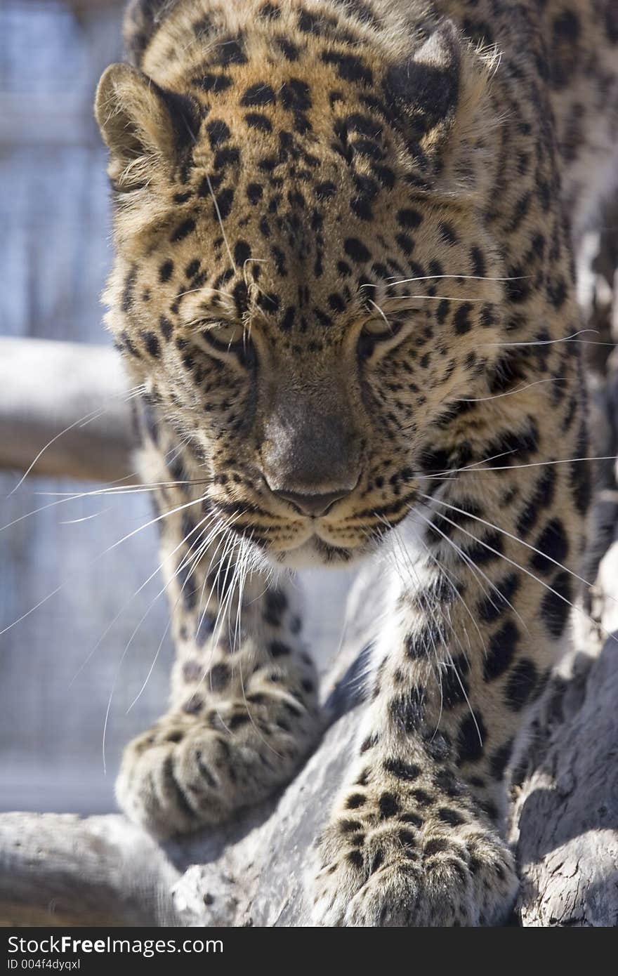
[[[132,0],[96,96],[176,645],[120,807],[275,794],[323,733],[305,566],[382,560],[316,926],[500,925],[508,770],[594,491],[575,258],[615,181],[613,0]]]

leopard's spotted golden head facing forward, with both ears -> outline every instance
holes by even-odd
[[[427,489],[502,336],[467,136],[487,65],[448,24],[408,50],[348,10],[188,6],[151,77],[100,85],[107,321],[233,530],[279,564],[348,562]]]

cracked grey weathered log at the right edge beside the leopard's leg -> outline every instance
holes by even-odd
[[[618,631],[588,664],[556,681],[516,791],[523,925],[618,924]]]

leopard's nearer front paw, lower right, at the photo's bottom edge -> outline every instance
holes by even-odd
[[[316,925],[492,925],[515,901],[513,856],[482,825],[455,836],[416,831],[404,822],[363,835],[353,827],[348,833],[340,821],[319,849],[311,892]]]

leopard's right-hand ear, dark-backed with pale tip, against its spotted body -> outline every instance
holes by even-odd
[[[442,183],[457,164],[458,144],[467,145],[475,127],[476,135],[486,131],[488,117],[481,116],[493,58],[474,52],[447,19],[389,71],[388,92],[410,149],[421,169],[439,173]]]

